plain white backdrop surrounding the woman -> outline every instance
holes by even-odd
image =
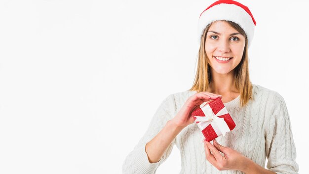
[[[214,0],[1,0],[0,174],[120,174],[171,93],[195,75],[197,19]],[[257,25],[254,84],[285,99],[307,173],[305,0],[239,0]],[[175,146],[157,174],[178,174]]]

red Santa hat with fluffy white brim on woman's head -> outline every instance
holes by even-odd
[[[249,8],[234,0],[218,0],[200,14],[198,19],[199,42],[206,26],[218,20],[227,20],[238,24],[247,35],[248,46],[251,44],[256,22]]]

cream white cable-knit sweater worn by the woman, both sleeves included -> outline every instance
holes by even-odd
[[[297,174],[296,149],[284,99],[275,91],[252,85],[253,99],[240,107],[240,96],[224,103],[236,127],[221,139],[230,147],[277,174]],[[170,155],[174,145],[181,153],[180,174],[243,174],[240,171],[218,171],[206,160],[203,135],[195,123],[183,129],[157,163],[149,163],[145,145],[171,120],[196,91],[167,96],[156,110],[148,130],[126,157],[124,174],[154,174]]]

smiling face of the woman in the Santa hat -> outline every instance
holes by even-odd
[[[228,22],[214,22],[207,32],[205,41],[205,51],[212,72],[232,73],[241,61],[245,44],[245,37]]]

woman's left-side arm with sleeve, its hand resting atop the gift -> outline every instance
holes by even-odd
[[[169,95],[157,109],[143,138],[125,159],[123,173],[154,174],[169,156],[177,134],[194,123],[192,111],[202,103],[218,97],[209,92],[195,93],[172,118],[173,111],[176,111],[175,99]]]

